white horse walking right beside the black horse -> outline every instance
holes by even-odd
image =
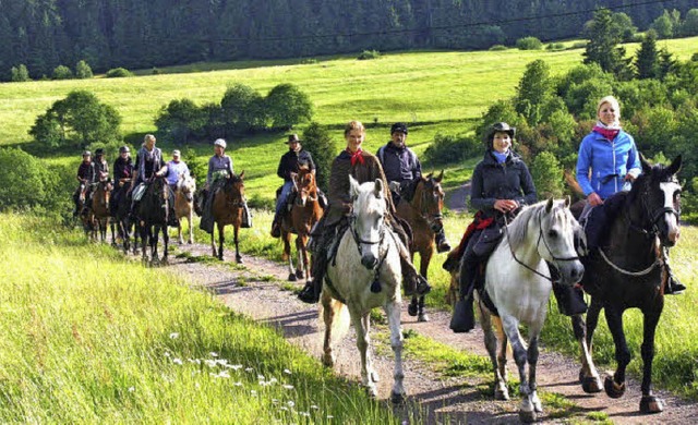
[[[478,306],[484,343],[494,368],[494,396],[500,400],[509,398],[506,388],[508,339],[521,381],[519,418],[522,422],[535,421],[537,412],[543,411],[535,391],[535,364],[538,339],[545,323],[552,290],[545,262],[555,266],[563,284],[578,282],[583,275],[574,243],[578,230],[579,223],[569,211],[568,198],[564,202],[551,198],[527,207],[506,227],[505,235],[485,268],[485,291],[497,313],[491,312],[482,300],[478,301]],[[500,338],[498,354],[492,321]],[[519,333],[519,323],[529,326],[528,349]]]

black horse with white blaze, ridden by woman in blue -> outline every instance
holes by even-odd
[[[641,155],[642,174],[623,196],[621,211],[609,223],[607,245],[582,258],[587,274],[581,284],[591,295],[585,325],[581,315],[573,316],[573,328],[582,357],[580,380],[585,392],[601,391],[601,379],[591,357],[592,337],[599,314],[605,311],[606,324],[615,344],[617,362],[613,376],[606,376],[603,388],[611,398],[625,392],[625,369],[630,362],[623,330],[623,313],[639,308],[643,317],[641,413],[663,411],[661,399],[652,394],[654,335],[664,307],[667,276],[660,251],[674,246],[681,233],[678,219],[682,187],[676,179],[682,157],[669,167],[651,166]],[[586,332],[585,332],[586,331]],[[586,333],[586,335],[585,335]]]

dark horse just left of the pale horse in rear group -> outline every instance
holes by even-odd
[[[141,230],[143,263],[148,262],[146,244],[151,245],[151,264],[159,264],[157,241],[163,231],[163,264],[168,264],[168,245],[170,236],[167,233],[170,204],[173,202],[170,189],[164,177],[155,177],[143,193],[137,207],[137,220]]]

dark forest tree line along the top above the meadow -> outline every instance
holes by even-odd
[[[683,29],[690,0],[3,0],[0,81],[51,77],[84,60],[96,72],[196,61],[304,58],[362,50],[474,49],[576,37],[600,5],[640,28],[667,12]],[[502,11],[509,11],[502,13]],[[516,11],[516,14],[510,13]],[[674,12],[675,11],[675,12]],[[658,33],[660,31],[658,29]],[[21,69],[20,65],[24,65]],[[59,76],[65,76],[59,70]]]

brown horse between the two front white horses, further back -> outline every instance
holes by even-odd
[[[428,276],[429,265],[434,255],[434,234],[444,228],[444,191],[441,187],[443,178],[444,171],[438,177],[430,173],[426,178],[420,178],[412,199],[400,198],[396,208],[397,215],[412,228],[410,254],[413,260],[414,253],[419,253],[419,272],[424,277]],[[407,311],[410,316],[417,316],[417,321],[429,321],[429,316],[424,313],[424,295],[412,295]]]

